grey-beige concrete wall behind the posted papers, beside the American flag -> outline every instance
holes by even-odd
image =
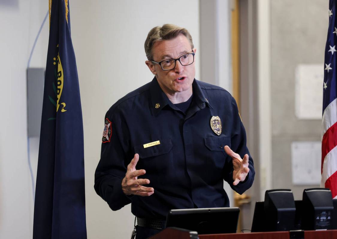
[[[322,64],[323,72],[328,9],[325,0],[271,1],[273,188],[292,189],[297,200],[302,199],[305,188],[319,185],[292,184],[290,145],[292,141],[320,141],[321,120],[295,116],[295,67]]]

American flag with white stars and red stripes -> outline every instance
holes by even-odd
[[[329,2],[329,29],[324,58],[321,187],[337,198],[337,0]]]

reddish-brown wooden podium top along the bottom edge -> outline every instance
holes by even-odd
[[[290,236],[291,232],[251,232],[251,233],[228,233],[228,234],[208,234],[198,235],[195,231],[181,228],[166,228],[160,233],[150,237],[150,239],[335,239],[337,230],[327,231],[300,231],[297,234],[302,236]],[[294,235],[294,234],[293,234]]]

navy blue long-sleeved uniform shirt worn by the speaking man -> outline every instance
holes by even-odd
[[[101,159],[94,188],[118,210],[131,204],[137,217],[165,219],[171,209],[228,207],[223,179],[242,194],[253,183],[254,166],[246,146],[246,133],[234,98],[226,90],[193,80],[193,97],[184,114],[171,103],[157,79],[118,100],[105,115]],[[222,132],[211,128],[212,116],[219,116]],[[144,144],[160,144],[144,148]],[[232,158],[228,145],[241,158],[248,153],[249,173],[244,182],[233,185]],[[145,169],[154,188],[148,197],[126,196],[122,179],[134,154],[136,169]]]

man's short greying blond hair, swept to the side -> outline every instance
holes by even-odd
[[[164,24],[162,27],[152,28],[144,43],[145,54],[148,60],[153,60],[152,46],[156,41],[170,40],[176,38],[178,35],[183,34],[190,42],[192,49],[194,48],[192,36],[187,29],[178,27],[173,24]]]

